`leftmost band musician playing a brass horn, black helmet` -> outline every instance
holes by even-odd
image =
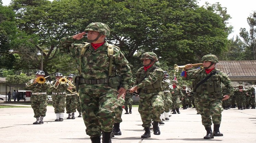
[[[38,83],[39,77],[42,77],[42,82]],[[28,83],[26,83],[26,89],[31,90],[32,95],[30,98],[31,107],[34,110],[34,117],[36,118],[36,122],[33,124],[44,124],[43,119],[46,116],[47,111],[47,102],[48,96],[46,94],[46,90],[50,86],[50,82],[45,80],[45,72],[42,70],[38,70],[36,72],[36,79],[32,79]]]

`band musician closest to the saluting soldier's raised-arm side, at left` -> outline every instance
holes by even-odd
[[[69,74],[68,76],[68,80],[71,84],[73,84],[74,76],[75,76],[74,74]],[[76,104],[77,104],[77,93],[76,93],[75,87],[69,86],[69,88],[66,90],[66,113],[69,114],[67,119],[75,119]]]

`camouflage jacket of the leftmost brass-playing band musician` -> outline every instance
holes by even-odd
[[[39,84],[39,83],[35,83],[33,85],[33,81],[27,83],[26,85],[26,89],[27,90],[31,90],[32,93],[42,93],[42,92],[46,92],[48,90],[48,88],[50,87],[50,82],[48,80],[45,81],[45,83]],[[29,86],[31,85],[31,86]]]

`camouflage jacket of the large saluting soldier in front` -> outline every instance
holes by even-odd
[[[85,51],[82,57],[82,67],[80,67],[80,53],[84,44],[74,43],[76,40],[72,36],[61,38],[61,51],[71,52],[76,60],[78,70],[82,70],[82,78],[84,79],[107,79],[110,77],[117,76],[117,70],[120,71],[119,75],[122,77],[122,87],[124,89],[130,89],[132,82],[132,72],[128,65],[128,61],[124,57],[121,50],[113,46],[113,62],[111,69],[111,76],[109,77],[109,63],[110,57],[108,56],[108,42],[105,43],[95,50],[92,45],[89,44],[89,48]],[[91,87],[105,90],[106,92],[112,88],[106,84],[86,84],[87,89],[83,92],[96,92],[90,89]],[[112,89],[113,90],[113,89]],[[115,89],[116,90],[116,89]]]

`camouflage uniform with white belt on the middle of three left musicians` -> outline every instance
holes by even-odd
[[[51,81],[50,91],[52,92],[52,106],[54,108],[54,113],[56,114],[57,118],[59,114],[59,118],[64,117],[65,112],[65,102],[66,102],[66,89],[68,88],[68,84],[59,83],[58,88],[56,89],[55,83],[57,81]],[[53,87],[54,86],[54,87]],[[57,120],[56,118],[56,120]]]

